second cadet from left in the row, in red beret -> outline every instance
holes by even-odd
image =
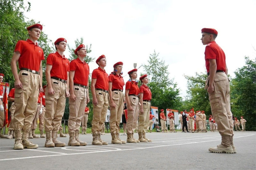
[[[44,115],[45,147],[66,145],[57,139],[57,134],[65,110],[66,97],[69,97],[69,60],[64,55],[67,40],[59,38],[54,44],[57,51],[48,55],[45,70],[47,81]]]

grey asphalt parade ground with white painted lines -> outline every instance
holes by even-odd
[[[134,133],[135,138],[138,134]],[[220,144],[218,132],[147,133],[150,143],[92,145],[92,134],[79,135],[87,146],[44,147],[45,138],[29,139],[38,149],[14,150],[14,139],[0,138],[0,169],[256,169],[256,132],[235,131],[237,153],[211,153]],[[126,136],[120,135],[126,140]],[[58,138],[68,144],[69,136]]]

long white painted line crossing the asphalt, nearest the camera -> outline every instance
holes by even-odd
[[[234,138],[242,138],[242,137],[248,137],[248,136],[254,136],[253,135],[246,135],[246,136],[240,136],[240,137],[234,137]],[[157,146],[151,146],[151,147],[141,147],[141,148],[132,148],[132,149],[118,149],[118,150],[104,150],[104,151],[98,151],[98,152],[80,152],[80,153],[67,153],[67,154],[58,154],[58,155],[42,155],[42,156],[30,156],[30,157],[20,157],[20,158],[9,158],[9,159],[0,159],[0,161],[3,160],[15,160],[15,159],[29,159],[29,158],[40,158],[40,157],[51,157],[51,156],[62,156],[62,155],[78,155],[78,154],[88,154],[88,153],[99,153],[99,152],[113,152],[113,151],[128,151],[128,150],[137,150],[137,149],[149,149],[149,148],[157,148],[157,147],[163,147],[163,146],[174,146],[174,145],[187,145],[187,144],[196,144],[196,143],[204,143],[204,142],[212,142],[212,141],[219,141],[221,139],[217,140],[210,140],[210,141],[201,141],[201,142],[189,142],[184,144],[171,144],[171,145],[157,145]],[[163,141],[164,142],[164,141]],[[95,147],[101,147],[101,146],[95,146]],[[61,148],[64,149],[65,147]],[[108,147],[106,147],[108,148]],[[113,148],[117,149],[117,148]],[[67,150],[67,149],[66,149]],[[81,150],[79,150],[81,151]]]

